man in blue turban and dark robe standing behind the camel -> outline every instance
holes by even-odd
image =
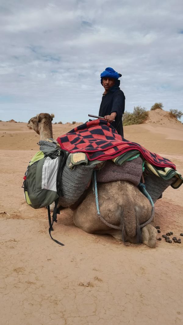
[[[123,136],[122,115],[125,109],[125,96],[120,90],[121,74],[112,68],[106,68],[100,74],[101,84],[105,91],[99,109],[99,116],[104,116],[105,120],[111,123],[116,131]],[[112,122],[115,120],[115,122]]]

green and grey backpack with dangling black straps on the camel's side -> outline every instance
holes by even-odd
[[[40,209],[47,207],[50,236],[51,230],[53,230],[53,222],[57,222],[59,197],[63,196],[61,176],[66,159],[67,152],[62,149],[53,149],[46,153],[38,151],[29,162],[22,185],[26,202],[32,208]],[[53,202],[55,202],[55,207],[51,222],[50,204]],[[52,236],[51,239],[64,246],[59,241],[53,239]]]

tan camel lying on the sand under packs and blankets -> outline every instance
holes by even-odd
[[[27,126],[39,134],[41,140],[53,138],[53,117],[54,114],[40,113],[32,117]],[[106,224],[97,215],[95,195],[90,186],[86,198],[73,211],[75,226],[88,233],[110,234],[120,241],[142,242],[154,248],[156,228],[152,223],[140,228],[151,218],[152,212],[151,203],[141,191],[128,181],[98,183],[97,188],[100,214]]]

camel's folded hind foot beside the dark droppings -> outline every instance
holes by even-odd
[[[152,224],[143,227],[141,233],[142,243],[154,248],[156,246],[156,235],[157,229]]]

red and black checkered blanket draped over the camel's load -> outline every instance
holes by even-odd
[[[85,152],[89,160],[109,160],[130,150],[139,150],[143,158],[158,167],[176,166],[170,160],[150,152],[140,144],[122,138],[107,121],[98,119],[75,127],[57,138],[61,148],[69,152]]]

